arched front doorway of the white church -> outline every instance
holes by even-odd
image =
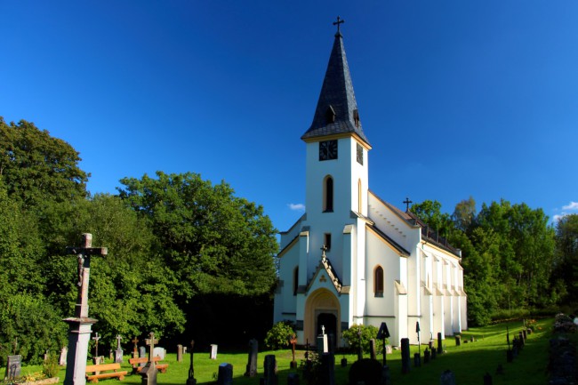
[[[317,344],[317,335],[321,334],[321,327],[325,326],[325,334],[332,341],[333,347],[339,346],[341,341],[341,309],[335,294],[327,289],[317,289],[310,293],[305,302],[305,323],[303,334],[309,344]]]

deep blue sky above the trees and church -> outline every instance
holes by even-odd
[[[92,193],[197,172],[286,230],[337,15],[378,196],[578,213],[575,0],[0,0],[0,116],[68,141]]]

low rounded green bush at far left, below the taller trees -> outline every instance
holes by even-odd
[[[67,343],[68,326],[41,297],[26,293],[9,297],[0,308],[0,324],[1,360],[16,353],[23,362],[40,364],[46,350],[57,352]]]

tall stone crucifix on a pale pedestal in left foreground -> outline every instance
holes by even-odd
[[[78,259],[78,299],[75,317],[68,317],[68,356],[64,385],[86,384],[86,357],[92,324],[97,322],[88,317],[88,278],[91,272],[91,256],[106,255],[106,247],[92,247],[92,234],[83,234],[83,246],[67,247],[67,253],[76,254]]]

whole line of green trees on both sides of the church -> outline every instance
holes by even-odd
[[[80,161],[35,124],[0,117],[0,361],[18,352],[34,363],[66,346],[61,319],[74,315],[77,265],[65,250],[85,232],[108,247],[92,259],[90,278],[100,341],[116,346],[116,334],[149,332],[196,346],[262,341],[278,245],[260,205],[193,172],[127,177],[117,194],[92,195]],[[571,303],[578,293],[577,215],[552,227],[542,209],[502,200],[477,211],[471,197],[452,215],[436,201],[411,210],[462,249],[470,323]]]

